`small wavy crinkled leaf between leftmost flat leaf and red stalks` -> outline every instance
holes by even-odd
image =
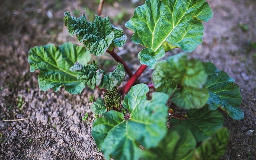
[[[104,70],[98,68],[94,61],[84,66],[76,62],[70,70],[76,73],[78,80],[92,89],[98,86],[100,89],[112,90],[121,85],[126,74],[121,63],[118,63],[113,72],[106,74]]]

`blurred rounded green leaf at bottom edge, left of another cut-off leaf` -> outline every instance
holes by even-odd
[[[184,126],[170,129],[157,148],[151,148],[144,160],[191,160],[196,140]]]

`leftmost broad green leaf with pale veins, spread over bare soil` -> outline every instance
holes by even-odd
[[[72,43],[64,43],[60,47],[54,44],[36,46],[28,52],[30,72],[40,70],[38,83],[43,91],[52,88],[56,92],[64,85],[70,94],[81,93],[85,86],[69,68],[76,61],[85,65],[89,60],[88,51],[83,46]]]

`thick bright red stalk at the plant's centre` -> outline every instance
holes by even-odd
[[[123,94],[126,94],[130,88],[133,86],[133,84],[138,80],[140,75],[146,70],[148,66],[142,64],[140,68],[135,72],[135,74],[130,78],[130,80],[126,83],[126,85],[123,88]]]

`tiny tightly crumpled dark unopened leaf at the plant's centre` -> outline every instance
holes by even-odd
[[[110,110],[110,108],[119,108],[121,105],[121,94],[120,91],[114,87],[111,91],[107,90],[104,93],[104,102],[106,107],[108,108],[108,110]]]

